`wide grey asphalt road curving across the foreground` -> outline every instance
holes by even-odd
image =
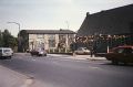
[[[1,59],[0,65],[41,80],[44,87],[133,87],[132,65],[116,66],[108,61],[63,57],[16,55],[12,59]]]

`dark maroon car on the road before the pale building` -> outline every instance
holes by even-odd
[[[43,48],[35,48],[35,50],[30,51],[30,54],[32,56],[33,55],[37,55],[37,56],[47,56],[47,51],[43,50]]]

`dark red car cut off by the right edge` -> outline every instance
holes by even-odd
[[[133,46],[117,46],[105,54],[105,58],[112,61],[113,64],[133,63]]]

